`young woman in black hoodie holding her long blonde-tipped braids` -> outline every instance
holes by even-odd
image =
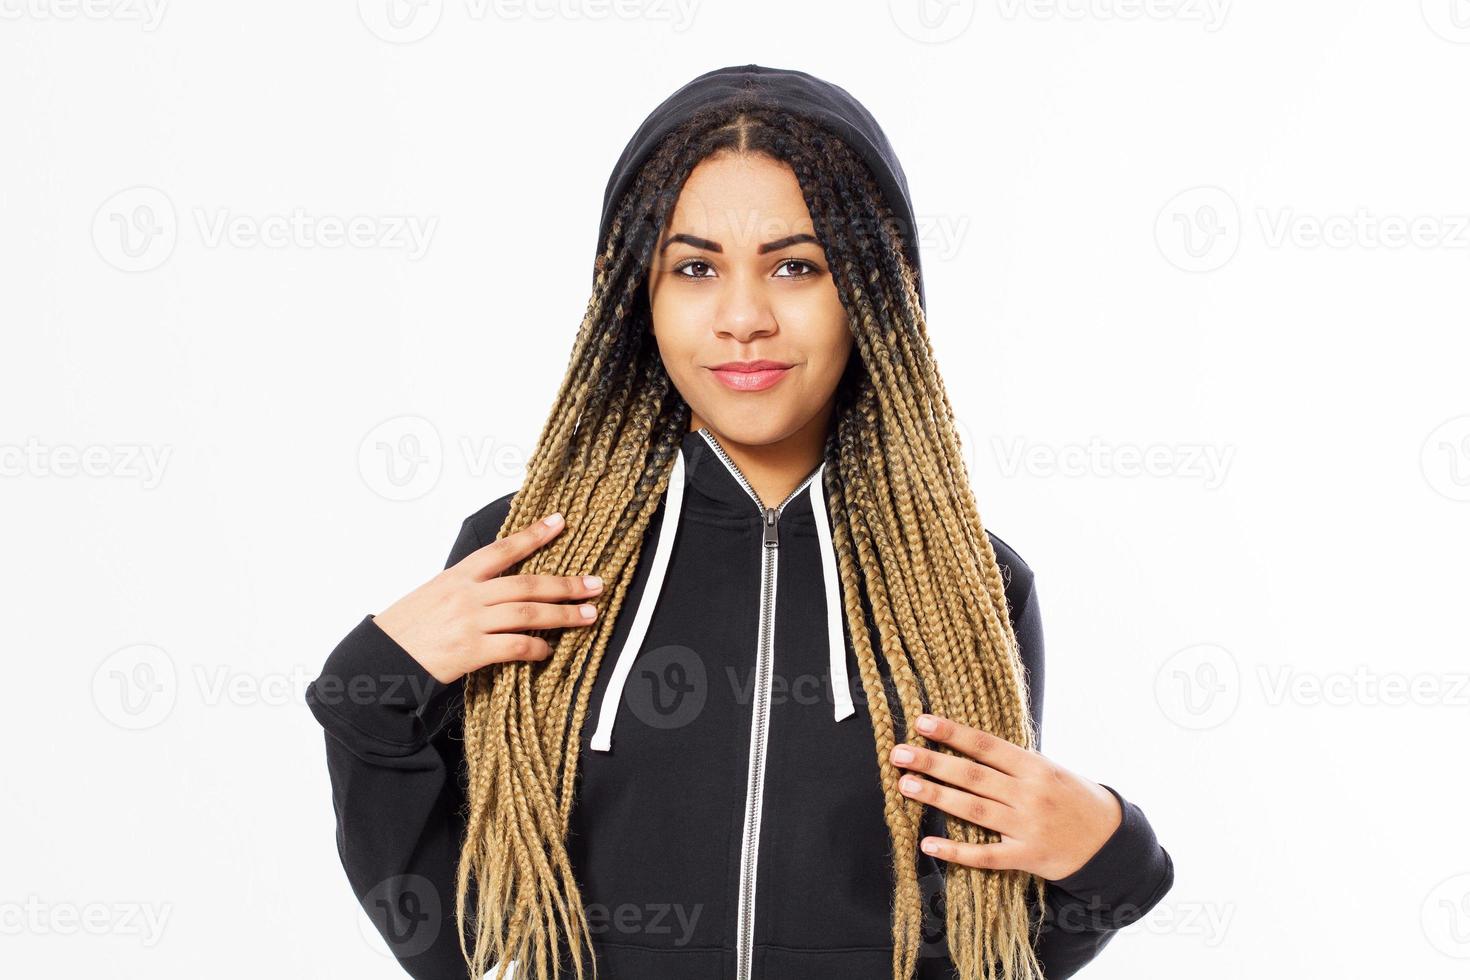
[[[836,85],[725,68],[634,135],[522,486],[307,695],[412,976],[1058,980],[1169,890],[1039,754],[919,272]]]

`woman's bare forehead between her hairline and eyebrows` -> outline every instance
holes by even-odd
[[[667,231],[711,238],[726,251],[754,251],[763,241],[814,228],[788,163],[764,154],[720,153],[689,172]]]

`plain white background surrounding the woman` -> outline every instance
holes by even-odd
[[[301,692],[519,486],[613,162],[748,62],[889,134],[1047,754],[1176,861],[1086,976],[1464,976],[1464,0],[0,12],[6,976],[400,976]]]

